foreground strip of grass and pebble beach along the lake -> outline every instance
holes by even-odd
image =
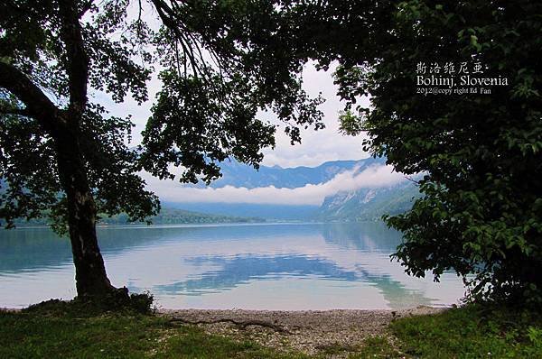
[[[11,310],[0,309],[1,357],[542,357],[540,342],[531,338],[542,330],[537,310],[526,316],[521,308],[477,304],[401,310],[162,309],[151,316],[99,310],[85,315],[84,306],[59,302],[28,313]]]

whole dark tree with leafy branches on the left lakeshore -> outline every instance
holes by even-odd
[[[235,157],[257,167],[274,145],[272,109],[292,141],[322,127],[321,99],[304,93],[304,56],[275,1],[14,1],[0,5],[0,215],[47,216],[68,231],[80,297],[117,290],[98,248],[98,213],[143,220],[159,210],[141,170],[181,181],[220,176]],[[154,16],[149,18],[149,16]],[[146,19],[146,20],[144,20]],[[158,65],[155,65],[155,64]],[[97,91],[122,102],[163,87],[129,148],[129,116],[107,115]]]

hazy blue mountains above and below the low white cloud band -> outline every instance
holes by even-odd
[[[317,167],[260,166],[259,170],[254,170],[237,161],[226,161],[220,164],[222,177],[212,182],[210,187],[255,189],[273,186],[277,189],[295,189],[328,182],[346,170],[359,174],[371,166],[385,164],[385,159],[369,158],[358,161],[328,161]],[[419,193],[416,185],[403,181],[389,187],[341,191],[326,197],[321,206],[243,203],[243,198],[239,198],[239,203],[166,202],[164,206],[223,216],[257,216],[279,221],[367,221],[379,219],[384,214],[404,212],[412,206],[412,198],[417,196]]]

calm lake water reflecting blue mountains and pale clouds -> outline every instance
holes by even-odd
[[[453,273],[407,276],[389,260],[401,235],[378,223],[117,226],[98,238],[113,284],[150,290],[162,308],[410,308],[464,291]],[[67,239],[0,230],[0,307],[75,295]]]

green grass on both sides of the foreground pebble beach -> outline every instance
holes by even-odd
[[[323,345],[319,358],[542,358],[542,318],[526,311],[467,306],[399,318],[388,336],[361,345]],[[308,358],[247,340],[206,334],[153,315],[97,313],[51,302],[0,312],[0,358]]]

